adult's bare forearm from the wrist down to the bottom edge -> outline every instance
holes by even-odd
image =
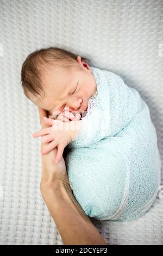
[[[108,245],[66,182],[55,182],[52,186],[43,187],[41,192],[64,245]]]

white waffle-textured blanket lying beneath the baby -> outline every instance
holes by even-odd
[[[0,1],[1,245],[62,245],[39,190],[39,114],[21,88],[24,59],[57,46],[120,75],[148,103],[162,158],[162,29],[161,0]],[[93,223],[111,245],[161,245],[163,199],[137,221]]]

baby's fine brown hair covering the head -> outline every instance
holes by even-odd
[[[63,50],[58,47],[41,48],[30,53],[22,65],[21,70],[21,83],[24,90],[24,94],[29,98],[28,92],[34,96],[40,95],[43,92],[42,88],[42,70],[48,65],[54,65],[60,68],[77,69],[80,70],[80,66],[77,65],[76,54]],[[89,63],[89,59],[83,58]],[[45,93],[43,92],[45,95]]]

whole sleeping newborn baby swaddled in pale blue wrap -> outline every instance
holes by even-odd
[[[115,221],[145,215],[158,193],[161,160],[140,94],[113,72],[54,47],[29,54],[21,81],[28,99],[49,113],[52,127],[35,137],[49,142],[45,154],[57,147],[58,160],[67,150],[68,179],[85,213]]]

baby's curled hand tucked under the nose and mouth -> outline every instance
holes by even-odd
[[[53,119],[53,117],[55,118],[55,116],[58,113],[53,112],[53,115],[49,115],[50,119]],[[69,111],[69,107],[65,106],[64,111],[62,113],[60,113],[59,115],[57,115],[57,118],[55,118],[55,120],[60,120],[63,122],[69,122],[70,120],[80,120],[81,115],[79,113],[73,113]]]

